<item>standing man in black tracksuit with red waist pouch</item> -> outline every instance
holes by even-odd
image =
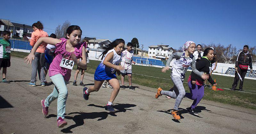
[[[247,45],[244,45],[243,51],[240,51],[237,55],[236,66],[235,66],[236,74],[235,74],[234,83],[232,85],[231,90],[236,89],[236,86],[239,81],[239,76],[237,74],[237,71],[243,80],[243,81],[240,81],[239,91],[243,91],[244,77],[247,73],[248,65],[250,66],[250,69],[252,72],[252,57],[251,57],[251,54],[248,52],[248,49],[249,49],[249,47]]]

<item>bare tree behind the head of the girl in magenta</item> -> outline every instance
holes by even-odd
[[[66,20],[62,25],[59,24],[55,28],[55,34],[57,36],[57,39],[66,37],[66,31],[68,29],[68,26],[70,26],[70,25],[71,25],[71,23],[68,20]]]

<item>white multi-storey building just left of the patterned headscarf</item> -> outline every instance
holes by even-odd
[[[148,47],[148,57],[166,58],[172,54],[173,48],[169,45],[152,45]]]

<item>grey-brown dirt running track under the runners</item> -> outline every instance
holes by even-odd
[[[135,84],[140,87],[135,91],[120,90],[114,102],[117,112],[110,114],[104,106],[112,90],[101,88],[85,101],[82,87],[72,86],[74,73],[67,85],[68,125],[59,129],[57,100],[49,107],[47,117],[42,114],[40,104],[54,85],[28,86],[31,65],[12,57],[7,70],[7,78],[12,81],[0,83],[0,133],[256,133],[255,110],[202,100],[197,107],[200,115],[194,116],[186,110],[192,100],[184,98],[180,105],[182,119],[176,122],[170,114],[174,99],[164,96],[155,99],[156,89]],[[49,76],[47,81],[51,81]],[[93,85],[93,75],[86,74],[84,83]]]

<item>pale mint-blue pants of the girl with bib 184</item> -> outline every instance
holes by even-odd
[[[45,99],[44,105],[49,107],[52,101],[58,98],[57,101],[57,119],[61,117],[64,119],[66,101],[68,98],[67,81],[64,80],[61,74],[56,74],[50,77],[55,85],[52,93]]]

